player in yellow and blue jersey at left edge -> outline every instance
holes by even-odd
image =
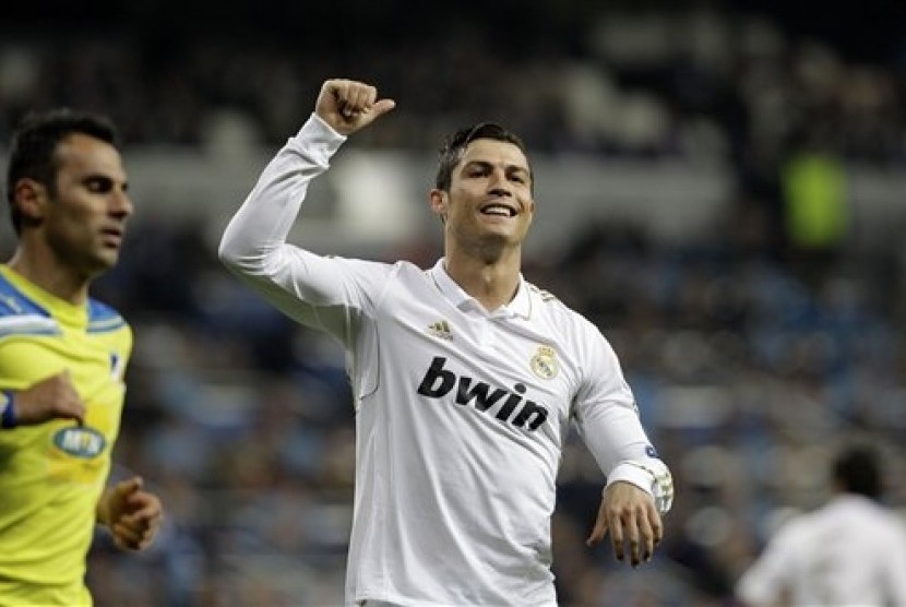
[[[29,115],[7,188],[19,245],[0,264],[0,606],[91,605],[95,523],[138,550],[162,516],[141,477],[107,486],[132,349],[129,325],[88,295],[132,214],[114,127]]]

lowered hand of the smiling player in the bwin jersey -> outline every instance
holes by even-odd
[[[631,483],[608,486],[586,544],[599,544],[608,532],[618,560],[625,559],[627,548],[632,567],[651,560],[664,537],[664,525],[652,496]]]

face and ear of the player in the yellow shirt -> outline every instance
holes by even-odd
[[[110,269],[119,258],[132,214],[127,176],[117,148],[74,133],[55,151],[52,187],[32,179],[16,185],[25,229],[53,262],[81,279]],[[25,234],[23,234],[25,236]]]

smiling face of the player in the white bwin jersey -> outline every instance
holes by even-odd
[[[449,191],[431,191],[431,207],[458,248],[482,253],[517,248],[535,213],[525,154],[505,141],[469,142],[453,167]]]

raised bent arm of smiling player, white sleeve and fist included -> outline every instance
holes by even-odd
[[[342,332],[317,309],[356,306],[356,293],[344,283],[347,273],[338,271],[344,262],[288,245],[289,230],[311,180],[327,169],[346,136],[393,107],[391,99],[378,100],[377,90],[368,84],[324,82],[312,116],[269,163],[224,231],[218,250],[223,263],[300,322]]]

